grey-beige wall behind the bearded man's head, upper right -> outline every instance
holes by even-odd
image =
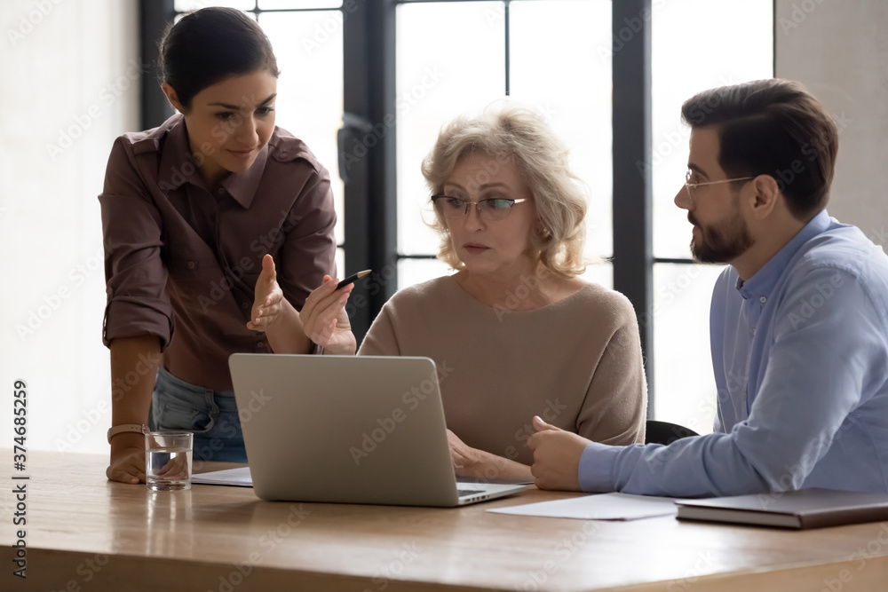
[[[777,0],[776,75],[805,83],[840,130],[829,213],[888,244],[888,2]]]

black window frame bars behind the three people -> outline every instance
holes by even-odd
[[[372,269],[362,291],[353,296],[353,332],[361,343],[370,324],[398,286],[398,263],[434,255],[398,252],[395,18],[400,4],[483,2],[488,0],[343,0],[344,117],[339,132],[339,164],[348,154],[363,154],[340,166],[345,181],[345,272]],[[503,2],[505,27],[505,94],[510,92],[510,6]],[[613,232],[614,289],[626,295],[638,315],[642,351],[648,375],[648,415],[654,411],[654,265],[695,264],[693,259],[654,257],[653,182],[638,174],[636,162],[650,162],[651,11],[652,0],[612,2],[612,38],[621,40],[613,52]],[[249,12],[310,12],[330,8],[264,11],[256,0]],[[776,15],[776,0],[773,3]],[[143,62],[152,65],[141,94],[143,129],[155,127],[172,114],[155,83],[157,40],[177,14],[174,0],[140,0],[140,47]],[[640,18],[639,18],[640,17]],[[633,23],[625,40],[627,23]],[[776,27],[776,17],[774,27]],[[260,20],[261,23],[261,20]],[[776,30],[773,36],[776,45]],[[774,51],[776,60],[776,51]],[[371,146],[372,144],[372,146]],[[329,167],[332,163],[327,163]],[[360,300],[357,296],[361,296]]]

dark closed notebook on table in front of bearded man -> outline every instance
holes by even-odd
[[[678,519],[783,528],[822,528],[888,519],[888,493],[800,489],[784,493],[677,500]]]

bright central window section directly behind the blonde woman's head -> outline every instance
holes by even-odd
[[[609,0],[409,2],[397,7],[399,285],[447,273],[419,171],[441,125],[506,96],[535,107],[571,150],[591,198],[586,253],[609,257]],[[578,67],[579,66],[579,67]],[[612,283],[610,265],[588,276]]]

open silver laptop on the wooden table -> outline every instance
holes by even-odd
[[[235,353],[228,366],[264,500],[453,507],[525,489],[457,487],[432,359]]]

